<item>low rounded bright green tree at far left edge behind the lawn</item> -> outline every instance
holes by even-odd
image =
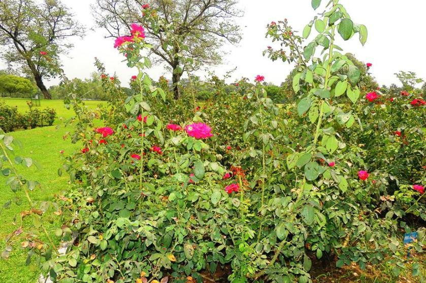
[[[7,93],[9,97],[14,94],[30,97],[32,94],[36,93],[36,88],[27,78],[5,74],[0,75],[0,92]]]

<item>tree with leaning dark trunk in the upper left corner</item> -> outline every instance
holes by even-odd
[[[3,59],[34,76],[44,97],[51,99],[43,79],[53,76],[58,57],[73,45],[64,42],[83,36],[83,27],[59,0],[0,1],[0,51]]]

